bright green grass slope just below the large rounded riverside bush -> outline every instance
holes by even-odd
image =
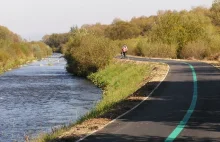
[[[152,66],[149,64],[117,62],[98,73],[91,74],[89,79],[103,88],[104,93],[102,100],[85,119],[102,115],[116,103],[126,99],[140,87],[140,83],[150,75],[151,70]]]

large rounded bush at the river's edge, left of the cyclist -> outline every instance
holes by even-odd
[[[92,34],[74,34],[67,46],[67,70],[78,76],[87,76],[104,68],[116,53],[116,45],[111,40]]]

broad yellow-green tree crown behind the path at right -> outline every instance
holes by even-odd
[[[205,39],[211,31],[208,17],[197,13],[165,12],[158,15],[151,36],[152,40],[178,44],[179,50],[188,42]]]

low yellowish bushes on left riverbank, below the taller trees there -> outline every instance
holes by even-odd
[[[47,57],[51,53],[51,49],[41,42],[0,45],[0,72],[17,67],[27,61]]]

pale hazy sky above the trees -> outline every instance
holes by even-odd
[[[0,0],[0,25],[22,38],[41,40],[72,26],[111,24],[115,18],[156,15],[158,10],[211,7],[213,0]]]

